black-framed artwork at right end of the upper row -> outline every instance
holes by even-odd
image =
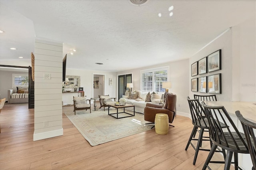
[[[221,49],[208,55],[208,72],[221,70]]]

